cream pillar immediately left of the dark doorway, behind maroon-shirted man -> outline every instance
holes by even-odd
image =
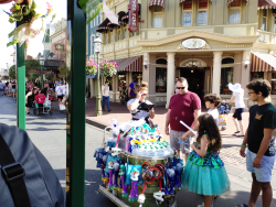
[[[168,56],[168,70],[167,70],[167,103],[166,108],[169,107],[171,92],[174,89],[174,78],[176,78],[176,66],[174,56],[176,53],[167,53]]]

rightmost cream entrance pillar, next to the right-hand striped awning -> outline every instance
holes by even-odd
[[[245,62],[251,61],[251,51],[243,52],[243,62],[242,62],[242,73],[241,73],[241,86],[244,89],[244,102],[245,107],[248,106],[248,90],[246,85],[251,80],[251,63],[245,66]]]

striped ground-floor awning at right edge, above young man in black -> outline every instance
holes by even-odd
[[[272,54],[252,53],[252,72],[274,72],[276,70],[276,56]]]

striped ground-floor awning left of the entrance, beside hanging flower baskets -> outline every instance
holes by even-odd
[[[115,59],[118,67],[117,72],[142,72],[142,56]]]

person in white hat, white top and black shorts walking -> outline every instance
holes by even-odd
[[[229,84],[229,89],[233,91],[233,96],[225,102],[235,102],[235,112],[232,119],[236,127],[236,132],[233,135],[236,135],[237,138],[244,138],[244,126],[242,118],[242,113],[245,110],[245,103],[243,100],[244,89],[241,87],[241,84]]]

